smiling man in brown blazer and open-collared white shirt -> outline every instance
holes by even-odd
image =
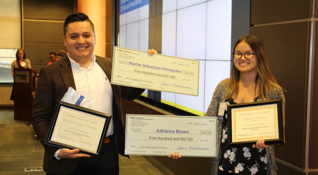
[[[49,175],[118,174],[118,153],[124,155],[125,146],[121,98],[134,100],[144,89],[110,84],[112,59],[93,54],[94,26],[85,14],[75,13],[66,18],[63,40],[68,56],[41,68],[35,93],[32,124],[45,148],[43,169]],[[112,113],[113,134],[105,139],[100,158],[80,154],[78,149],[45,144],[55,105],[69,87],[85,94],[80,106],[99,111],[106,108]],[[109,97],[108,101],[104,96]]]

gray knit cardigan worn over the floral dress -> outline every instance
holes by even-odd
[[[219,103],[225,102],[225,94],[227,91],[227,81],[221,81],[218,86],[215,88],[213,97],[210,103],[210,106],[205,114],[205,116],[212,117],[218,116],[218,109]],[[270,100],[281,99],[282,100],[282,111],[283,111],[283,123],[285,126],[285,97],[283,94],[282,89],[275,89],[273,92],[268,93],[268,97]],[[222,133],[222,121],[218,121],[218,133]],[[219,168],[219,159],[220,159],[220,143],[221,143],[221,134],[218,134],[218,156],[212,159],[212,168],[211,173],[212,175],[218,174]],[[266,148],[267,154],[267,175],[276,175],[277,166],[275,163],[275,156],[274,156],[274,146],[269,145]]]

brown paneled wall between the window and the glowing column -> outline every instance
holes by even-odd
[[[32,69],[39,72],[50,52],[66,50],[63,42],[65,18],[74,13],[73,0],[22,0],[22,47]]]

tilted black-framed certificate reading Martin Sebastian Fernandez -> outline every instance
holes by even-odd
[[[45,144],[99,157],[111,115],[58,101]]]

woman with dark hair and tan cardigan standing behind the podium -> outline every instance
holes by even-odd
[[[11,64],[11,73],[13,76],[13,68],[29,68],[31,69],[31,61],[27,58],[25,58],[25,52],[23,49],[18,49],[16,53],[16,60],[14,60]],[[10,96],[10,100],[13,100],[13,86],[12,86],[12,92]]]

